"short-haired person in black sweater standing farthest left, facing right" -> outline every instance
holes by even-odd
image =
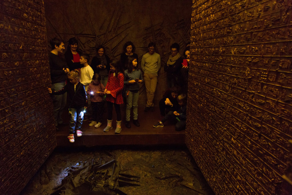
[[[61,54],[65,50],[64,42],[58,38],[50,41],[52,51],[49,53],[49,64],[52,81],[52,90],[59,91],[65,86],[65,80],[69,73],[69,67],[65,60],[61,58]],[[66,106],[66,93],[53,96],[55,126],[63,124],[62,112]],[[57,128],[58,130],[58,128]]]

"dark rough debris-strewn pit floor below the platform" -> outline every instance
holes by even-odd
[[[185,146],[103,146],[55,149],[21,194],[214,193]]]

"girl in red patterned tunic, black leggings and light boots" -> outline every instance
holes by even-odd
[[[110,62],[110,71],[107,85],[105,86],[105,94],[107,101],[107,126],[104,132],[112,129],[112,106],[117,113],[117,128],[115,133],[121,132],[121,108],[120,104],[124,103],[122,97],[122,90],[124,87],[124,70],[121,68],[120,62],[116,59]]]

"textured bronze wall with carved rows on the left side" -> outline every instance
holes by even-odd
[[[0,194],[18,194],[56,146],[44,2],[0,2]]]

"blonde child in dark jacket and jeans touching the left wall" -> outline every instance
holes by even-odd
[[[79,71],[72,70],[68,75],[68,80],[70,82],[62,90],[52,92],[51,88],[48,88],[48,91],[54,95],[61,95],[67,92],[67,104],[71,115],[68,139],[73,143],[75,129],[77,130],[77,137],[82,136],[81,125],[87,108],[87,96],[84,85],[80,83]]]

